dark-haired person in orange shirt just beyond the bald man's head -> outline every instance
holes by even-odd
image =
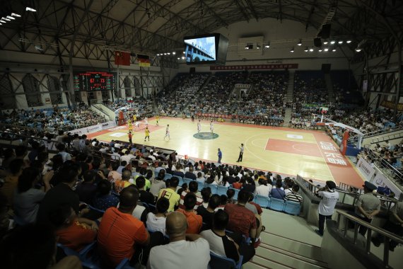
[[[178,209],[178,212],[182,212],[187,220],[186,234],[199,234],[202,229],[203,218],[194,212],[194,206],[196,205],[197,197],[194,193],[187,193],[183,199],[183,205],[185,210]]]

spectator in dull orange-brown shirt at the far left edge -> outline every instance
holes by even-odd
[[[3,186],[0,188],[1,193],[6,196],[8,205],[11,208],[13,208],[13,197],[18,185],[18,177],[23,173],[23,165],[24,161],[22,159],[13,159],[9,165],[10,174],[4,178]]]

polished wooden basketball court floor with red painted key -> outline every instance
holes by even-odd
[[[170,139],[164,139],[165,127],[170,125]],[[273,173],[296,176],[299,174],[314,181],[335,181],[361,186],[363,178],[354,164],[342,156],[339,147],[325,132],[297,130],[288,127],[214,122],[216,139],[197,139],[197,121],[182,118],[148,120],[150,141],[144,142],[144,122],[139,130],[134,128],[133,142],[155,147],[175,149],[178,155],[206,161],[218,160],[221,149],[224,164],[239,164]],[[210,132],[210,122],[202,121],[202,132]],[[128,127],[122,126],[96,132],[90,137],[110,142],[112,139],[128,141]],[[243,161],[237,163],[239,146],[243,143]]]

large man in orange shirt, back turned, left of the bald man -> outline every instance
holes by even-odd
[[[150,236],[143,222],[132,216],[139,200],[136,188],[124,188],[119,196],[119,208],[106,210],[98,230],[98,251],[109,266],[115,267],[124,258],[138,260],[140,246],[150,243]]]

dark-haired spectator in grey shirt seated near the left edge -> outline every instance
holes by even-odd
[[[36,222],[37,211],[45,193],[50,189],[49,181],[53,176],[53,171],[43,176],[45,188],[38,190],[35,185],[40,180],[40,170],[28,167],[18,178],[16,193],[14,193],[14,214],[20,217],[24,224]]]

